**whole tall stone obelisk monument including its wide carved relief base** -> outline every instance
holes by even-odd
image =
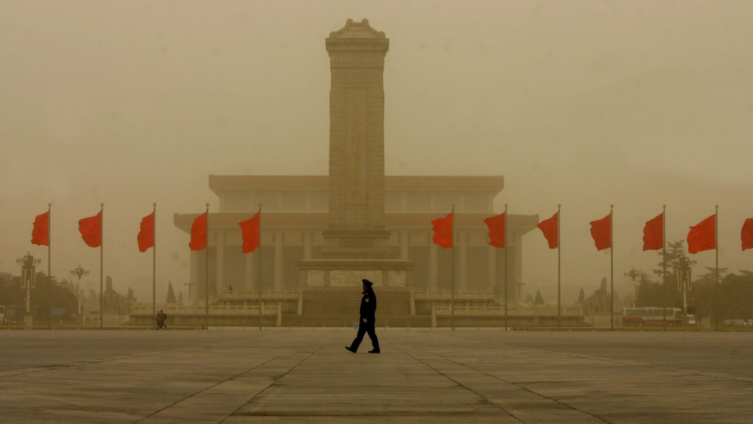
[[[329,221],[318,257],[299,263],[302,288],[407,289],[413,261],[388,245],[384,221],[384,59],[389,38],[347,20],[325,39],[330,57]]]

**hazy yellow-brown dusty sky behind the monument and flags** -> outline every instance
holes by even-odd
[[[608,276],[588,223],[610,203],[618,289],[657,263],[663,203],[668,240],[720,204],[720,266],[753,269],[753,2],[0,0],[0,270],[26,250],[47,269],[29,239],[52,201],[53,275],[98,286],[77,222],[103,201],[105,274],[151,300],[136,233],[157,201],[158,301],[184,290],[172,214],[217,210],[209,174],[327,174],[324,40],[364,17],[390,39],[386,174],[503,174],[495,210],[542,220],[562,203],[563,300]],[[523,240],[524,281],[556,284],[556,251]]]

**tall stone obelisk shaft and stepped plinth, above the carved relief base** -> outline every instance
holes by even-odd
[[[384,32],[349,19],[325,38],[330,57],[329,224],[322,256],[389,258],[384,224]]]

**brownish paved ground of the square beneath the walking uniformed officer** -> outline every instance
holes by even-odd
[[[2,330],[0,422],[753,422],[753,333]]]

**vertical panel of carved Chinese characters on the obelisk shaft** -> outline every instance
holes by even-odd
[[[346,203],[367,202],[367,94],[365,88],[349,88],[346,132]]]

